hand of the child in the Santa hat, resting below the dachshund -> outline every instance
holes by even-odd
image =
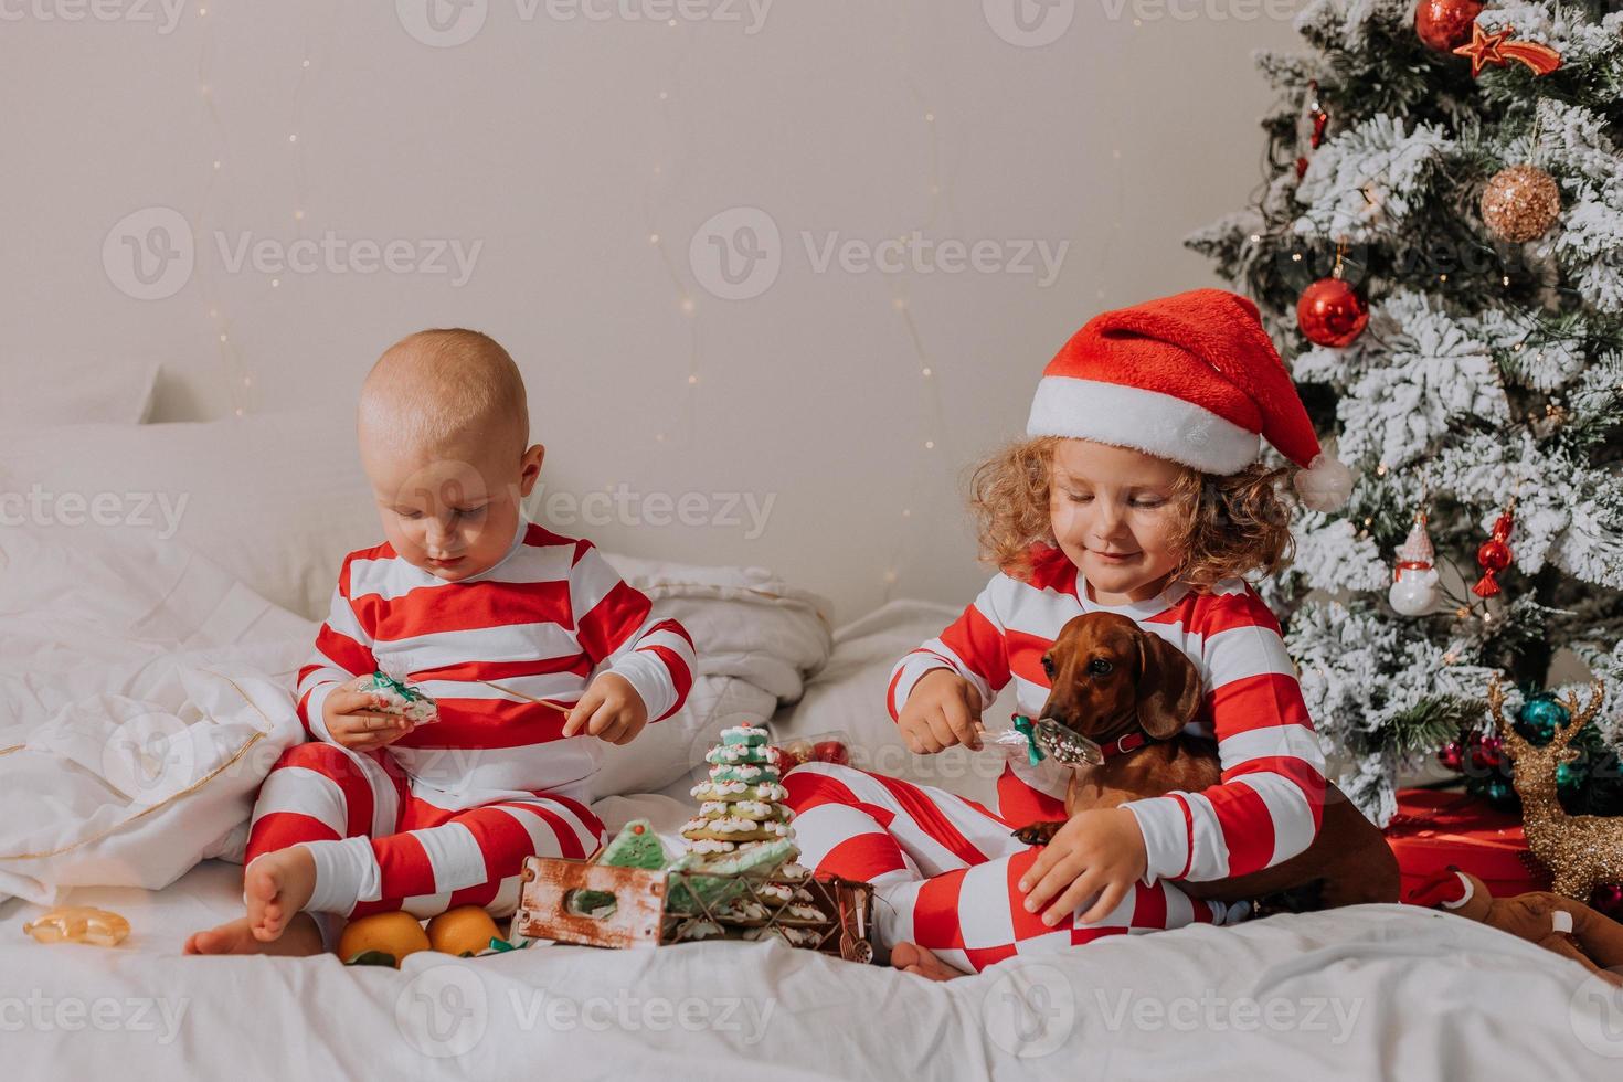
[[[1097,900],[1076,921],[1092,925],[1110,915],[1133,882],[1144,878],[1149,857],[1144,832],[1126,808],[1091,808],[1055,832],[1031,869],[1021,876],[1026,912],[1035,913],[1050,899],[1042,923],[1053,928],[1087,899]]]

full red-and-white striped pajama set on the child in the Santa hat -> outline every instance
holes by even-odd
[[[940,638],[896,665],[891,717],[935,668],[969,680],[984,702],[1013,680],[1019,711],[1035,717],[1048,696],[1042,655],[1060,628],[1084,612],[1113,612],[1195,662],[1204,693],[1193,725],[1217,738],[1222,784],[1123,805],[1144,834],[1144,882],[1105,921],[1052,930],[1026,913],[1014,886],[1035,850],[1008,835],[1034,819],[1063,818],[1066,775],[1050,761],[1035,769],[1013,762],[995,809],[849,767],[790,772],[805,860],[820,873],[881,876],[880,897],[894,908],[876,918],[881,939],[915,939],[972,968],[1100,934],[1220,923],[1224,907],[1195,902],[1169,881],[1224,879],[1289,860],[1311,844],[1324,801],[1324,756],[1295,667],[1279,621],[1250,584],[1225,579],[1195,594],[1173,582],[1149,600],[1100,605],[1065,553],[1035,555],[1027,581],[995,576]]]

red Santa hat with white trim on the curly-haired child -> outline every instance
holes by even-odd
[[[1196,289],[1105,311],[1048,362],[1029,436],[1073,436],[1235,474],[1261,438],[1302,467],[1297,492],[1315,511],[1352,493],[1352,472],[1323,453],[1297,386],[1256,305]]]

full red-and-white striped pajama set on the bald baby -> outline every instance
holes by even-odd
[[[377,668],[433,696],[440,720],[352,753],[333,743],[321,706]],[[613,672],[657,722],[682,707],[695,668],[682,625],[654,618],[591,542],[521,519],[506,555],[458,582],[388,543],[351,553],[299,672],[299,717],[316,743],[271,769],[245,860],[305,845],[316,865],[307,908],[320,913],[511,912],[524,857],[583,857],[602,840],[588,811],[601,743],[563,738],[568,706]]]

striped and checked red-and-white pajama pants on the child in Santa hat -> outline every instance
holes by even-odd
[[[1018,886],[1039,850],[1010,832],[1039,819],[1063,819],[1065,801],[1031,788],[1010,769],[998,779],[995,809],[941,788],[828,762],[795,767],[784,775],[784,787],[802,863],[818,874],[876,887],[873,931],[885,949],[915,942],[948,965],[979,972],[1016,954],[1230,917],[1222,902],[1191,899],[1160,881],[1134,884],[1102,921],[1084,925],[1078,910],[1053,928],[1044,925],[1040,913],[1026,912]]]

